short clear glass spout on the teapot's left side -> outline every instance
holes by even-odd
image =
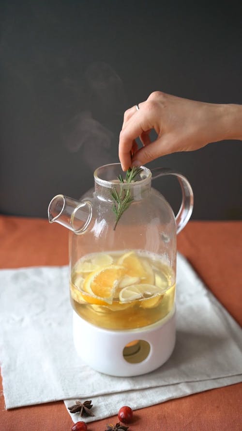
[[[89,201],[76,201],[57,194],[49,203],[49,223],[60,223],[76,234],[83,233],[91,221],[92,207]]]

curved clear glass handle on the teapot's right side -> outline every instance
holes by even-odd
[[[181,229],[185,227],[186,223],[190,219],[193,212],[194,198],[193,198],[192,187],[185,176],[183,176],[179,172],[173,171],[172,169],[154,168],[154,169],[151,169],[151,173],[152,173],[152,179],[158,178],[159,176],[164,176],[164,175],[173,175],[177,177],[180,183],[181,192],[182,192],[182,201],[181,201],[181,207],[176,216],[177,233],[179,233]]]

